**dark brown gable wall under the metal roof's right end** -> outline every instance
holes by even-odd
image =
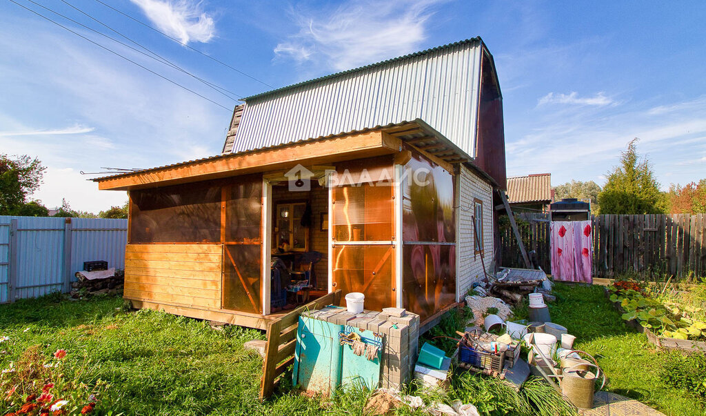
[[[481,61],[481,99],[475,158],[476,164],[493,177],[501,189],[507,189],[503,97],[495,65],[486,52]]]

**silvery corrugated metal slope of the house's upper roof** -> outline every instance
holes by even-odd
[[[234,153],[423,119],[474,155],[480,38],[247,98]]]

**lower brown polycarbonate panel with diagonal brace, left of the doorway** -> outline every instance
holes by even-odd
[[[223,309],[261,314],[261,244],[226,244],[223,250]]]

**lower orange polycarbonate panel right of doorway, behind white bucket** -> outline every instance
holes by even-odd
[[[331,261],[334,290],[363,293],[371,311],[395,306],[394,246],[337,245]]]

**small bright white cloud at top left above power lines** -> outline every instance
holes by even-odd
[[[140,6],[159,30],[181,43],[208,42],[215,36],[213,17],[203,11],[201,1],[130,0]]]

